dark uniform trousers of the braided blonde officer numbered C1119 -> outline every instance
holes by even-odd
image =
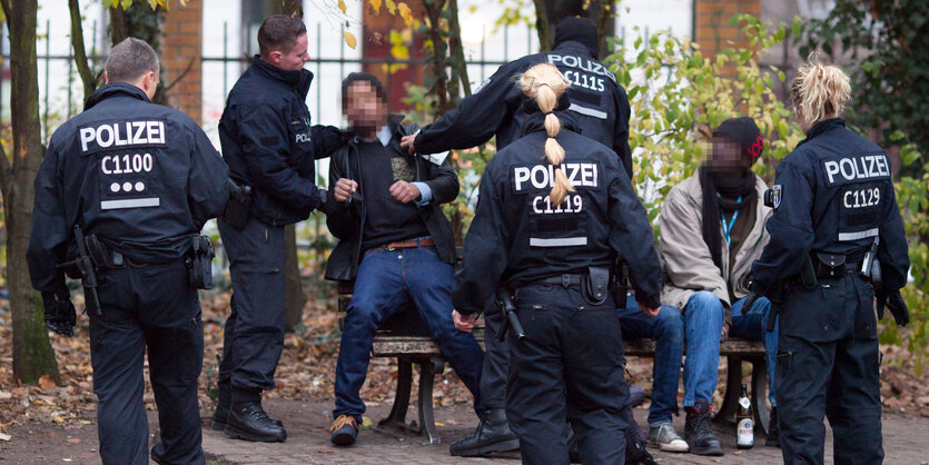
[[[577,287],[530,285],[516,310],[526,337],[507,333],[506,417],[523,463],[570,463],[566,423],[582,463],[624,463],[629,387],[613,300],[591,305]]]

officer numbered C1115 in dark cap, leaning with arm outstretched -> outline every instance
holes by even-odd
[[[600,42],[596,27],[586,18],[566,18],[555,29],[554,50],[535,53],[506,63],[448,111],[438,121],[418,133],[404,138],[404,147],[418,154],[434,154],[448,149],[466,149],[496,136],[496,148],[502,150],[521,137],[526,115],[520,111],[523,92],[513,78],[537,63],[552,63],[572,82],[570,115],[577,130],[615,151],[626,177],[632,177],[632,155],[629,147],[629,98],[616,82],[616,77],[596,61]],[[513,449],[517,444],[504,414],[506,366],[505,343],[497,340],[503,319],[490,304],[485,313],[484,373],[481,376],[481,398],[486,409],[477,429],[449,447],[453,455],[482,455]]]

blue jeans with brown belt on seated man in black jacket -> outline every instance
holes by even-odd
[[[359,423],[365,413],[360,390],[365,384],[377,327],[411,304],[432,333],[439,352],[474,395],[480,409],[484,352],[474,336],[452,321],[453,267],[433,247],[373,250],[365,254],[355,278],[355,291],[345,314],[336,364],[336,408]]]

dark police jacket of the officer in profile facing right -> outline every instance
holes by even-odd
[[[314,160],[337,150],[342,133],[310,126],[313,73],[285,71],[255,57],[226,99],[219,120],[230,177],[253,187],[251,216],[271,226],[306,219],[322,201]]]

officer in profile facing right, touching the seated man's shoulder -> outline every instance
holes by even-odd
[[[313,73],[304,69],[309,55],[303,21],[268,17],[258,47],[219,120],[230,177],[250,195],[231,202],[236,211],[219,220],[234,294],[213,428],[246,441],[281,442],[287,433],[261,408],[261,392],[274,388],[284,348],[284,226],[325,202],[314,161],[342,146],[342,135],[310,126],[306,96]]]

